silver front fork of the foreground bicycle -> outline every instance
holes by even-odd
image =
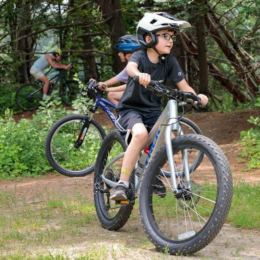
[[[170,168],[170,174],[172,179],[172,188],[173,192],[176,194],[181,193],[181,191],[177,187],[176,182],[176,171],[175,171],[175,162],[173,158],[173,147],[172,147],[172,131],[177,133],[182,133],[181,126],[178,120],[178,109],[177,109],[177,101],[176,100],[169,100],[168,107],[169,107],[169,121],[167,126],[165,127],[164,132],[164,139],[165,139],[165,146],[166,146],[166,153],[168,158],[168,164]],[[183,158],[183,169],[185,180],[187,183],[190,182],[190,172],[189,172],[189,162],[188,162],[188,154],[187,150],[182,151],[182,158]],[[189,188],[189,187],[188,187]]]

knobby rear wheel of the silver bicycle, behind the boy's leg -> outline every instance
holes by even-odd
[[[102,180],[104,167],[116,156],[126,150],[126,144],[122,140],[117,130],[110,132],[102,142],[97,158],[94,175],[94,201],[96,212],[101,225],[108,230],[120,229],[129,219],[133,204],[118,204],[114,200],[109,200],[112,187]],[[112,163],[104,173],[108,180],[118,181],[120,179],[121,165],[123,157]],[[129,179],[129,194],[134,200],[134,173]]]

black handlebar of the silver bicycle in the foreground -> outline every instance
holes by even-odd
[[[139,82],[139,76],[134,76],[133,80]],[[168,86],[161,84],[157,80],[151,80],[149,85],[147,85],[147,88],[158,96],[165,95],[170,98],[176,98],[179,101],[190,102],[189,100],[193,100],[191,103],[194,103],[200,107],[205,107],[202,105],[200,98],[195,94],[193,94],[192,92],[183,92],[178,89],[170,88]]]

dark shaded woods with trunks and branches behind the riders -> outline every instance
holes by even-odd
[[[259,95],[254,0],[2,0],[0,7],[1,88],[30,81],[33,61],[57,47],[83,80],[106,80],[125,66],[115,41],[135,34],[145,12],[165,11],[192,24],[178,36],[172,54],[189,84],[216,109],[224,99],[244,103]]]

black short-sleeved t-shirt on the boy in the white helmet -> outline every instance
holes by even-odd
[[[167,78],[173,83],[178,83],[184,79],[184,74],[179,63],[172,55],[167,55],[164,61],[153,63],[148,59],[146,50],[134,52],[129,60],[138,64],[138,69],[142,73],[151,75],[151,80],[158,80],[166,84]],[[117,111],[125,109],[135,109],[140,112],[160,112],[161,97],[146,89],[143,85],[128,77],[126,89],[119,101]]]

